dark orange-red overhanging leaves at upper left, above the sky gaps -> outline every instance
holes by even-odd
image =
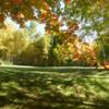
[[[13,21],[24,26],[28,20],[50,21],[53,16],[50,8],[57,5],[60,0],[4,0],[0,1],[0,23],[3,26],[4,19],[11,16]],[[53,5],[52,5],[53,4]],[[36,15],[37,14],[37,15]],[[44,20],[45,19],[45,20]]]

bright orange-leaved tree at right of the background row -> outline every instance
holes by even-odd
[[[93,66],[97,65],[97,52],[93,45],[85,45],[82,41],[75,41],[74,48],[73,61],[83,61]]]

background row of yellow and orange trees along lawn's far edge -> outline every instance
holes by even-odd
[[[37,25],[14,29],[0,29],[0,59],[24,65],[99,65],[101,47],[94,41],[83,43],[81,37],[68,33],[45,34],[36,32]],[[100,56],[100,57],[99,57]]]

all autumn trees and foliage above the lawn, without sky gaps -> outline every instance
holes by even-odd
[[[32,65],[102,64],[109,61],[108,10],[108,0],[0,1],[1,60]],[[23,28],[4,32],[5,17]],[[25,28],[25,22],[33,20],[46,24],[45,37],[29,37],[33,32]],[[96,32],[97,39],[92,47],[75,35],[80,24],[82,37]],[[63,26],[68,29],[60,29]]]

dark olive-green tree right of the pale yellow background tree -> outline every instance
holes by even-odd
[[[20,55],[21,64],[47,65],[50,38],[48,36],[36,37]]]

